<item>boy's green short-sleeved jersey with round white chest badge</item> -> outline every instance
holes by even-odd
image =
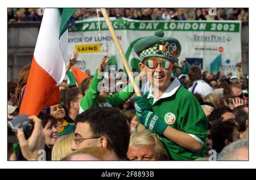
[[[168,87],[164,98],[160,98],[157,101],[155,99],[154,102],[154,98],[149,96],[149,92],[144,95],[144,98],[147,99],[148,103],[151,105],[151,110],[160,120],[165,121],[178,131],[191,135],[194,139],[203,144],[203,148],[200,152],[192,152],[164,136],[157,136],[166,146],[173,160],[195,160],[204,157],[207,146],[205,139],[207,137],[208,119],[197,99],[185,89],[185,87],[180,85],[177,78],[175,78],[174,83],[174,89],[169,89]]]

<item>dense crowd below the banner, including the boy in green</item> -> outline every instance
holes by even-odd
[[[134,45],[142,97],[122,69],[98,76],[109,62],[104,56],[94,76],[86,70],[90,76],[77,86],[63,82],[61,102],[28,118],[33,133],[26,139],[18,130],[18,143],[8,142],[9,160],[248,160],[249,89],[241,64],[237,76],[201,72],[178,61],[179,40],[163,36],[158,30]],[[29,72],[27,65],[8,82],[8,120],[19,113]]]

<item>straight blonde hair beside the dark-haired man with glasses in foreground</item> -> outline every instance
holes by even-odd
[[[52,148],[52,161],[60,161],[73,151],[71,144],[74,140],[74,133],[60,137]]]

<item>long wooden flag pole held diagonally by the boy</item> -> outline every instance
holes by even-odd
[[[101,13],[104,16],[106,24],[107,24],[107,26],[109,28],[109,32],[110,32],[110,34],[112,36],[112,39],[113,39],[113,41],[115,43],[115,47],[117,47],[117,51],[118,51],[119,55],[121,56],[121,60],[123,62],[123,66],[125,66],[125,70],[126,70],[126,72],[128,74],[129,79],[131,80],[131,83],[133,85],[133,89],[135,91],[135,94],[137,96],[141,97],[142,96],[141,92],[139,91],[139,87],[135,83],[135,80],[134,80],[134,77],[133,77],[133,72],[131,72],[131,68],[130,68],[127,60],[126,60],[125,53],[123,53],[123,49],[121,47],[121,44],[119,43],[119,41],[117,39],[117,35],[115,34],[114,28],[112,26],[112,23],[110,22],[109,15],[106,12],[106,9],[105,8],[101,8]],[[138,131],[143,131],[144,129],[145,129],[144,125],[140,124]]]

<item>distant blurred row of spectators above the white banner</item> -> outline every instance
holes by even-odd
[[[209,8],[171,9],[171,8],[112,8],[106,9],[109,16],[136,20],[249,20],[249,9],[218,8],[216,12]],[[212,13],[212,14],[211,14]],[[98,12],[99,16],[101,12]],[[84,20],[97,17],[97,9],[79,8],[71,18]],[[9,8],[8,22],[41,21],[42,10],[37,8]]]

